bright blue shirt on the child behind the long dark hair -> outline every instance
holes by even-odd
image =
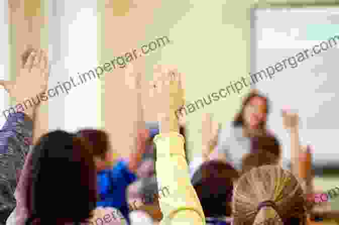
[[[130,224],[126,189],[136,180],[136,175],[129,170],[128,164],[124,160],[119,160],[110,170],[100,171],[97,174],[100,197],[97,206],[119,209]]]

